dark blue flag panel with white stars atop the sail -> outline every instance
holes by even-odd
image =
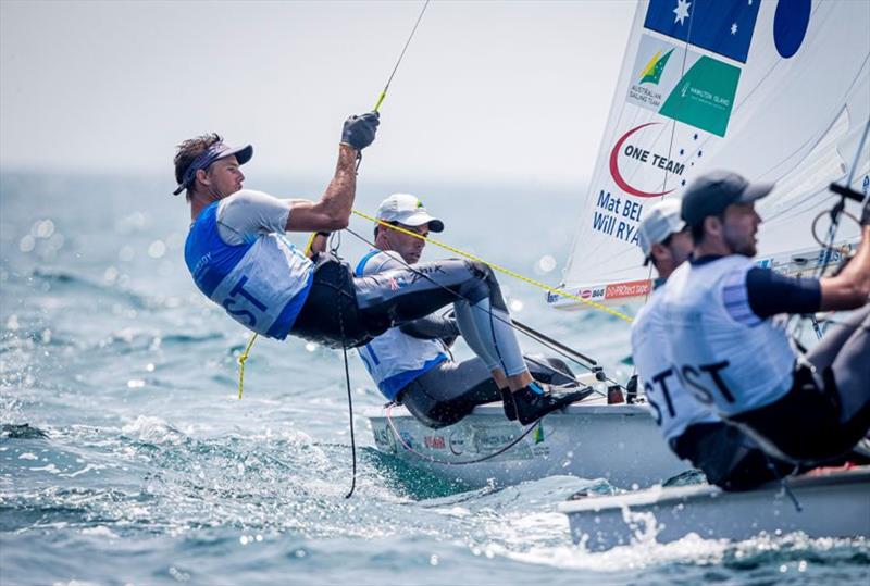
[[[761,0],[650,0],[644,27],[746,63]]]

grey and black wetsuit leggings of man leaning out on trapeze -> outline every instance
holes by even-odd
[[[469,347],[493,371],[525,372],[505,298],[483,263],[443,260],[357,277],[334,260],[318,265],[306,303],[290,333],[326,344],[357,347],[389,327],[425,317],[452,303]]]

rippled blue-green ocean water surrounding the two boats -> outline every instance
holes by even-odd
[[[247,185],[294,197],[325,183]],[[866,539],[687,537],[588,553],[555,508],[606,483],[468,490],[378,454],[363,413],[383,401],[356,357],[358,477],[346,499],[340,353],[259,340],[239,401],[248,336],[190,283],[188,212],[172,187],[0,174],[0,583],[868,583]],[[369,185],[363,173],[357,207],[371,212],[395,190],[423,196],[445,241],[558,283],[581,189]],[[352,228],[371,234],[360,220]],[[364,249],[344,236],[349,260]],[[521,320],[625,375],[624,324],[502,283]]]

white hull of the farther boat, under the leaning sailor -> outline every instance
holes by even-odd
[[[470,487],[572,475],[637,488],[689,467],[668,449],[644,406],[570,406],[540,420],[498,454],[529,429],[506,420],[500,406],[477,407],[459,423],[439,429],[422,425],[403,408],[394,408],[389,417],[382,410],[369,419],[378,450]]]

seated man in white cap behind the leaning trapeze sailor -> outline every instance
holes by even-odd
[[[377,219],[402,230],[382,224],[375,226],[375,248],[357,264],[355,274],[358,277],[417,263],[426,241],[406,233],[425,237],[444,229],[444,222],[431,215],[423,202],[410,194],[394,194],[384,199],[377,209]],[[498,372],[493,373],[500,370],[497,363],[487,364],[480,357],[453,361],[449,346],[460,335],[453,316],[433,313],[387,329],[362,346],[359,352],[381,392],[403,404],[430,427],[451,425],[471,413],[475,406],[493,401],[502,401],[508,419],[515,420],[508,385],[504,376],[498,377]],[[478,338],[473,335],[469,341],[477,350],[482,346]],[[544,362],[545,366],[536,362]],[[536,359],[526,366],[535,381],[559,385],[572,382],[568,365],[556,359]],[[550,403],[558,404],[579,400],[582,395],[562,392],[547,397]]]

